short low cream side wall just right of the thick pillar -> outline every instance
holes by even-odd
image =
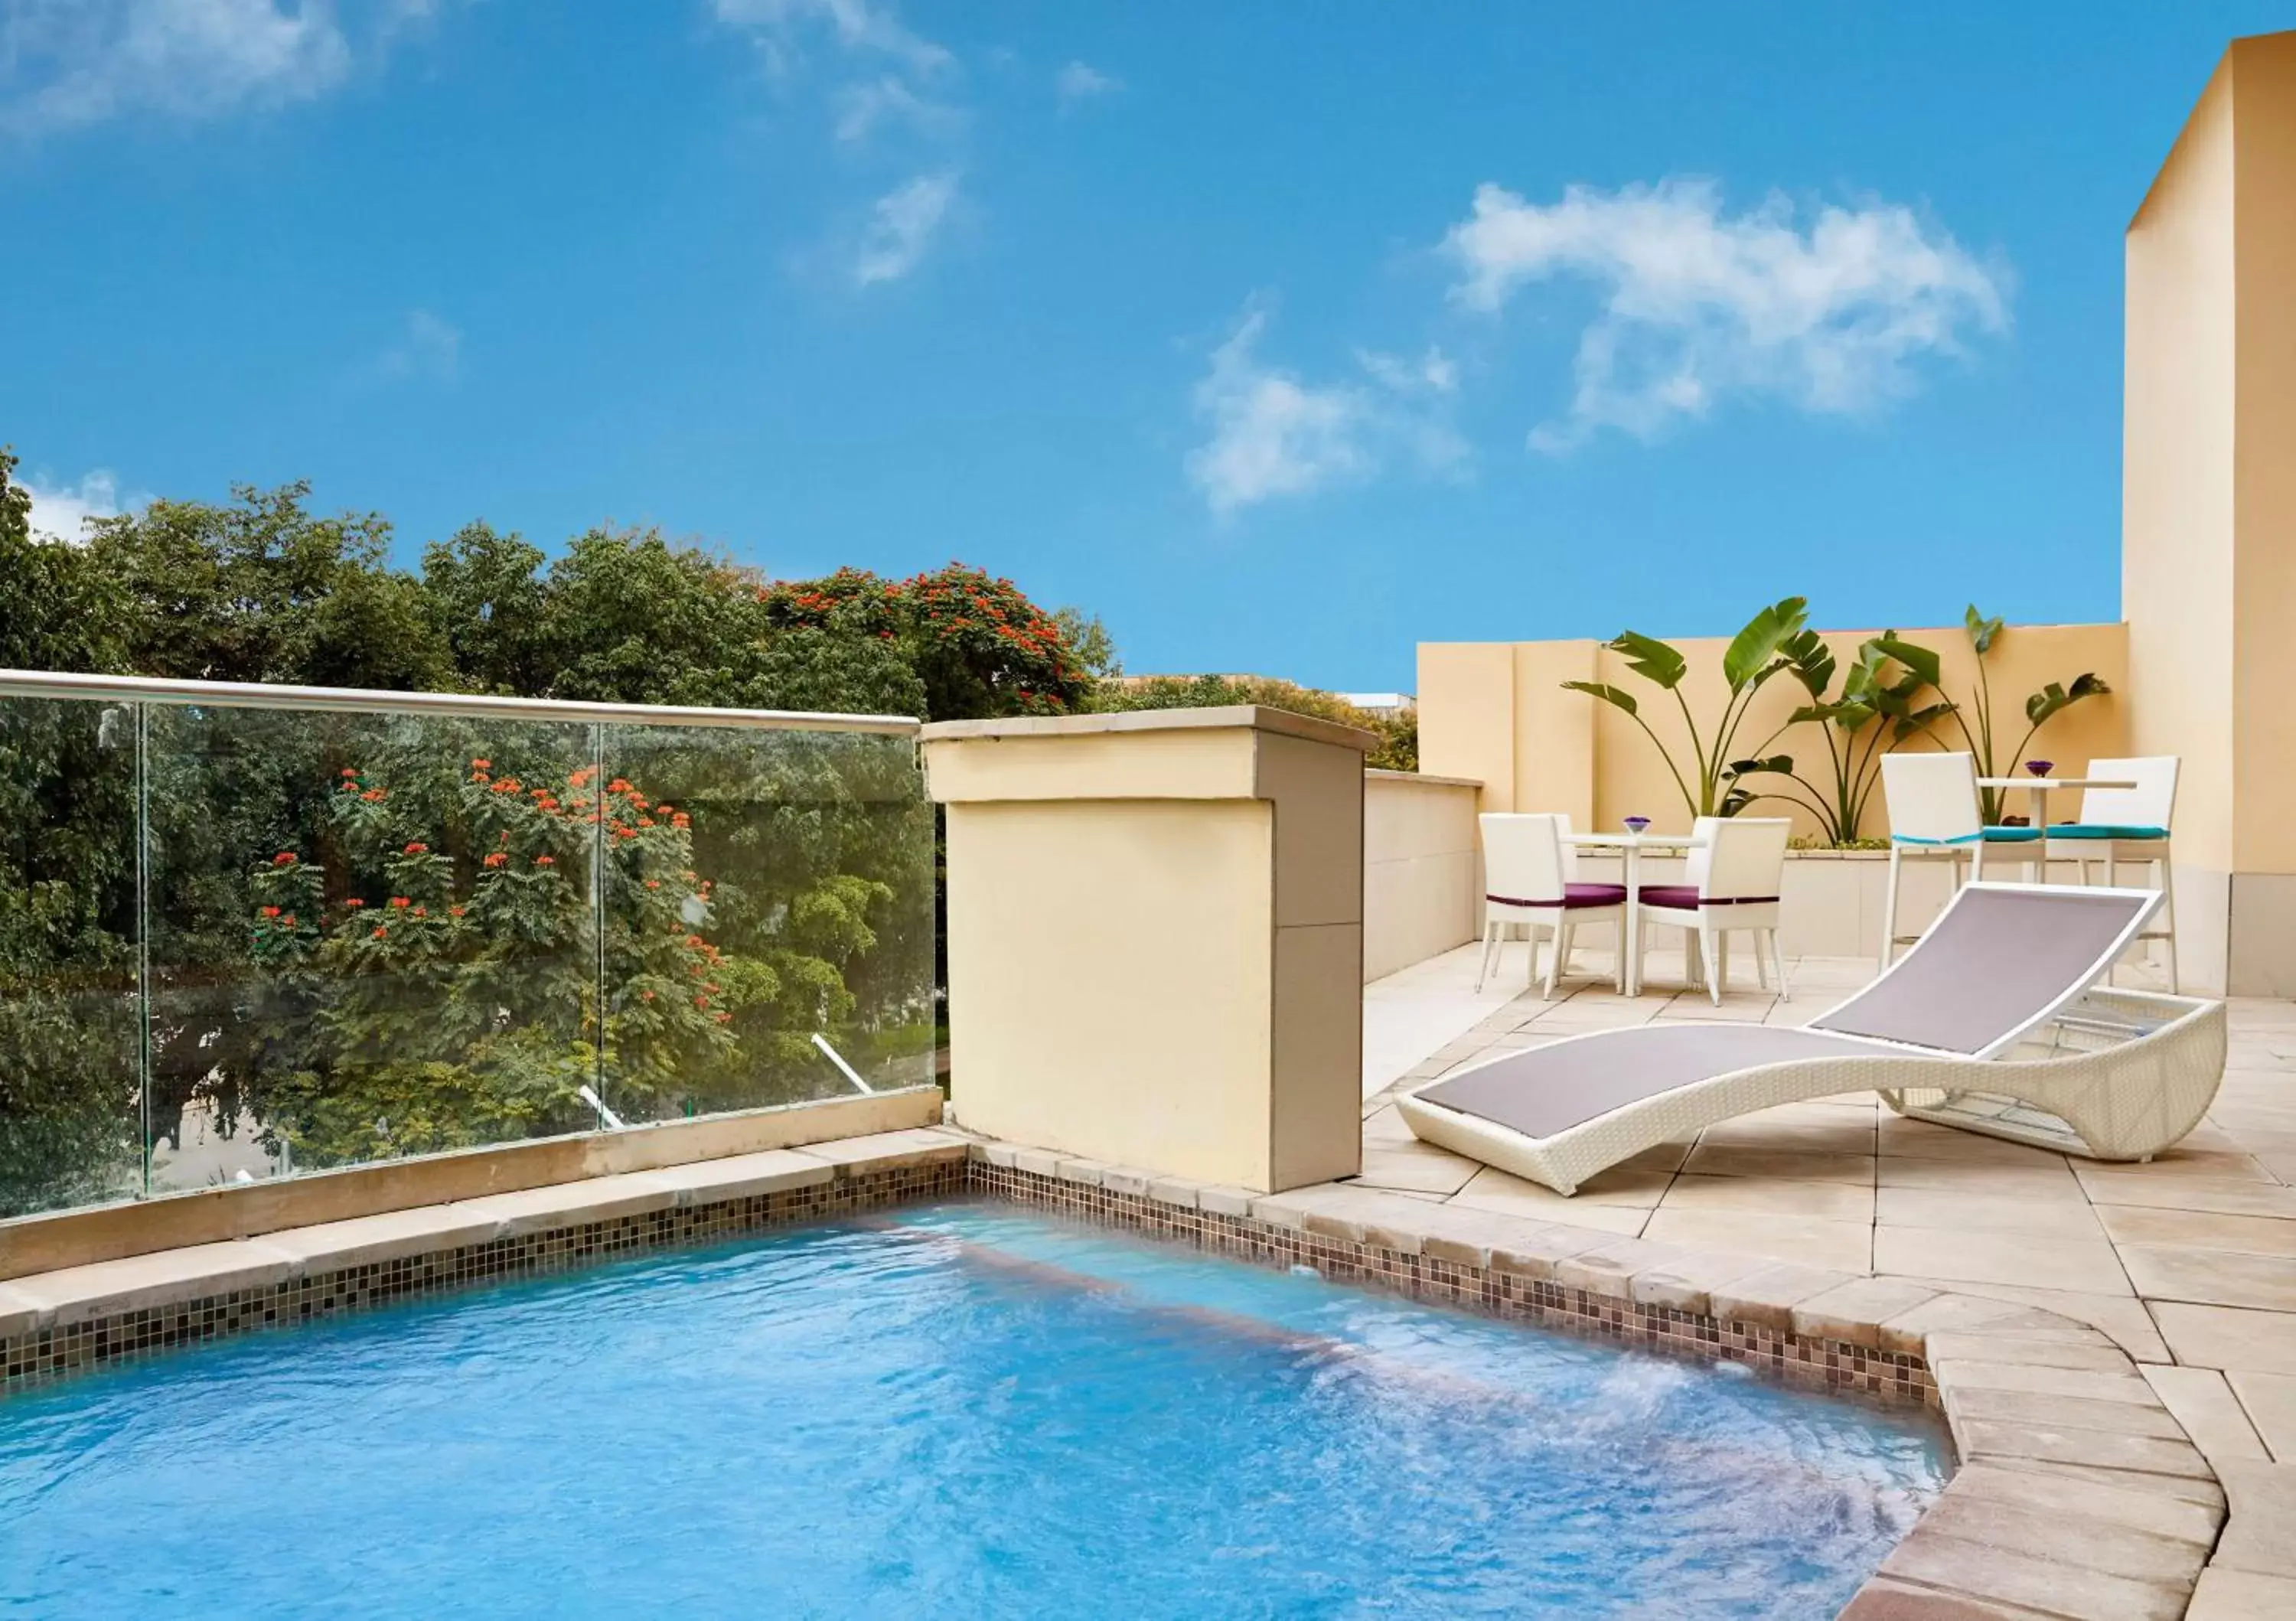
[[[1364,983],[1463,946],[1479,932],[1481,783],[1364,771]]]

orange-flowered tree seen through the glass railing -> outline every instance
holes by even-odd
[[[820,1068],[810,1029],[852,1013],[840,971],[877,944],[866,914],[889,886],[833,875],[788,941],[732,955],[709,939],[716,884],[684,808],[590,765],[478,755],[445,788],[400,767],[404,783],[342,767],[315,840],[333,854],[280,850],[250,875],[243,1098],[276,1153],[342,1164],[581,1130],[583,1086],[627,1118],[698,1114]],[[808,1033],[783,1029],[783,1003]]]

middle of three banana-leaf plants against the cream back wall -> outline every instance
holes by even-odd
[[[1825,843],[1848,845],[1880,785],[1880,758],[1954,712],[1938,691],[1938,654],[1896,631],[1867,636],[1841,673],[1841,691],[1828,698],[1837,668],[1832,647],[1816,631],[1800,631],[1784,652],[1809,703],[1789,714],[1754,758],[1731,762],[1729,776],[1733,783],[1784,778],[1791,788],[1763,788],[1754,799],[1798,804],[1818,820]],[[1924,693],[1931,703],[1922,703]],[[1763,753],[1795,726],[1816,726],[1825,739],[1825,781],[1795,771],[1793,755]]]

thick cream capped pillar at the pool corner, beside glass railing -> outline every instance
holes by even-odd
[[[953,1116],[1254,1192],[1352,1176],[1371,746],[1249,705],[928,726]]]

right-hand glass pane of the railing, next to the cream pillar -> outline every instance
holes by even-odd
[[[907,735],[606,726],[606,1104],[932,1081],[932,806]]]

